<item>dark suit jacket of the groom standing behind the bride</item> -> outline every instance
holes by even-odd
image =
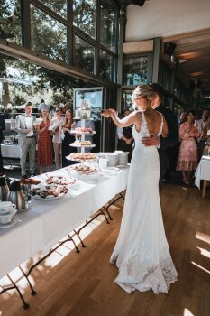
[[[166,119],[169,129],[168,137],[160,136],[160,149],[166,149],[178,145],[178,119],[175,114],[167,107],[163,107],[160,104],[159,107],[155,108],[156,111],[160,112]]]

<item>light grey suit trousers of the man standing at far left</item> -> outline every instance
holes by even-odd
[[[35,173],[35,155],[36,155],[36,138],[27,138],[25,139],[24,144],[21,145],[21,173],[22,175],[26,174],[26,158],[27,153],[29,153],[29,166],[30,166],[30,173]]]

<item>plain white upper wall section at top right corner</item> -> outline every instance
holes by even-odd
[[[126,10],[125,42],[210,28],[210,0],[149,0]]]

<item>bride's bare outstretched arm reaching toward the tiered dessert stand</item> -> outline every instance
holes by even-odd
[[[118,127],[127,127],[136,123],[136,112],[132,112],[129,116],[125,116],[122,119],[117,117],[117,112],[113,108],[109,108],[101,113],[104,117],[111,117],[114,124]]]

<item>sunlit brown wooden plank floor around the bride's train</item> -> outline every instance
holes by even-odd
[[[68,252],[64,246],[52,255],[54,262],[59,261],[57,265],[46,261],[33,271],[36,296],[20,282],[29,310],[23,310],[15,292],[5,293],[0,297],[0,315],[209,316],[210,191],[202,199],[196,188],[165,184],[161,204],[179,274],[169,294],[149,291],[129,295],[114,283],[117,269],[109,264],[109,257],[122,217],[123,203],[119,202],[111,208],[114,220],[110,225],[98,225],[86,237],[87,247],[79,245],[80,254]]]

